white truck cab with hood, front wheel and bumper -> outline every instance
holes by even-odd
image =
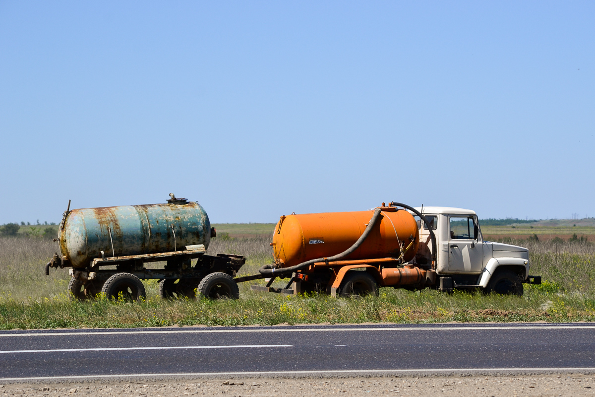
[[[485,241],[477,214],[452,207],[418,207],[415,215],[420,252],[431,255],[429,228],[436,236],[436,276],[440,290],[481,288],[486,292],[522,295],[523,283],[540,284],[529,275],[529,252],[520,246]],[[419,258],[418,258],[419,260]]]

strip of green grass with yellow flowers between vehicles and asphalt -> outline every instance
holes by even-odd
[[[245,326],[300,323],[440,323],[447,321],[594,321],[595,301],[532,288],[526,296],[436,290],[382,290],[378,297],[333,299],[325,295],[244,293],[239,301],[164,301],[143,304],[73,302],[67,296],[17,302],[0,298],[0,329],[155,326]]]

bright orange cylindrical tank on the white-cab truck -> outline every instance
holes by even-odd
[[[413,215],[405,210],[380,207],[382,214],[368,238],[342,260],[398,258],[412,260],[419,235]],[[282,216],[275,226],[273,254],[281,267],[290,267],[316,258],[327,258],[348,249],[364,233],[374,211],[324,212]],[[400,244],[399,244],[400,242]]]

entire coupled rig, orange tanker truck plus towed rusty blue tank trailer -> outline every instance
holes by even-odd
[[[167,204],[70,210],[69,201],[55,239],[60,253],[45,271],[71,267],[68,291],[81,300],[102,292],[140,301],[141,280],[150,279],[159,280],[162,298],[198,292],[213,299],[237,299],[237,283],[257,279],[268,283],[253,290],[335,297],[379,287],[522,295],[524,283],[541,283],[529,275],[526,248],[485,241],[477,214],[461,208],[391,202],[368,211],[283,215],[271,242],[273,264],[244,277],[236,277],[244,257],[206,255],[215,236],[201,205],[173,193]],[[145,265],[151,262],[157,267]],[[289,281],[272,287],[277,278]]]

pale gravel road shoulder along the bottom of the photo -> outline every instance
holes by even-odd
[[[546,376],[249,378],[0,385],[0,396],[595,396],[592,374]]]

